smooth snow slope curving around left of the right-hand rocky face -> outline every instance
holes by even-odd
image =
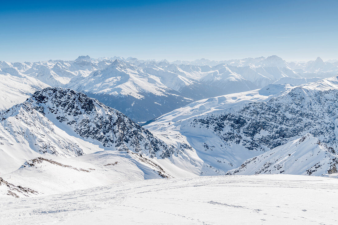
[[[212,127],[196,127],[192,125],[193,121],[236,105],[267,101],[291,88],[290,85],[284,84],[268,85],[264,89],[196,101],[173,110],[144,127],[174,146],[182,146],[182,143],[185,143],[192,147],[191,151],[181,153],[184,158],[176,159],[175,165],[196,175],[225,174],[227,170],[241,165],[243,160],[256,156],[259,152],[228,145],[223,137],[217,136]]]

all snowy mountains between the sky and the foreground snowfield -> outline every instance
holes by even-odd
[[[331,176],[337,71],[320,58],[277,56],[1,61],[0,193],[201,175]]]

